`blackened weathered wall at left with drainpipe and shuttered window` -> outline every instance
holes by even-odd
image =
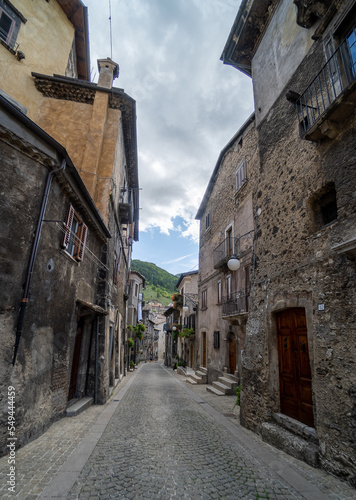
[[[22,151],[22,152],[21,152]],[[68,400],[71,360],[77,321],[77,300],[96,302],[98,264],[103,236],[85,215],[78,198],[63,178],[55,177],[33,269],[30,295],[16,364],[12,366],[19,304],[39,216],[48,156],[21,141],[0,148],[2,266],[1,281],[1,394],[16,390],[16,436],[19,445],[39,434],[63,415]],[[47,158],[47,159],[46,159]],[[58,163],[54,155],[52,160]],[[88,226],[84,259],[74,261],[60,247],[63,223],[73,203]],[[14,217],[16,214],[16,217]],[[48,221],[48,222],[47,222]],[[86,331],[85,335],[90,335]],[[88,339],[87,339],[88,340]],[[85,342],[87,342],[85,340]],[[2,412],[6,411],[3,401]],[[1,419],[6,414],[2,414]],[[1,426],[5,432],[7,426]],[[1,438],[1,447],[4,438]]]

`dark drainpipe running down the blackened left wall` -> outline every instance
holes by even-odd
[[[26,306],[27,306],[27,302],[28,302],[28,295],[29,295],[29,290],[30,290],[32,272],[33,272],[33,267],[34,267],[35,260],[36,260],[38,245],[39,245],[40,236],[41,236],[42,224],[43,224],[44,214],[46,211],[46,206],[47,206],[49,191],[51,188],[52,178],[53,178],[54,174],[56,174],[58,172],[62,172],[65,168],[66,168],[66,161],[63,159],[61,166],[56,170],[51,170],[50,172],[48,172],[48,175],[47,175],[47,182],[46,182],[46,187],[45,187],[45,191],[44,191],[43,198],[42,198],[40,215],[39,215],[38,221],[37,221],[35,239],[33,242],[31,257],[30,257],[30,261],[28,264],[28,268],[27,268],[25,290],[24,290],[23,297],[22,297],[21,304],[20,304],[20,314],[19,314],[19,319],[18,319],[17,329],[16,329],[14,357],[12,360],[13,366],[15,366],[17,351],[18,351],[19,344],[20,344],[22,326],[23,326],[23,322],[24,322],[24,318],[25,318],[25,310],[26,310]]]

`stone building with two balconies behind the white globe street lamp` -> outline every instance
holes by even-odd
[[[221,151],[196,218],[200,220],[197,367],[208,383],[241,372],[252,278],[252,185],[258,146],[252,115]],[[238,257],[235,266],[232,257]],[[228,266],[229,263],[229,266]],[[234,269],[234,268],[233,268]]]

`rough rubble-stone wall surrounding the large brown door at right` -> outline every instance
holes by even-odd
[[[324,63],[322,43],[315,43],[258,129],[261,169],[253,203],[261,215],[243,352],[241,420],[258,430],[280,411],[275,313],[303,307],[321,463],[356,484],[356,266],[354,259],[333,250],[355,236],[355,112],[336,139],[312,143],[300,138],[294,105],[285,99],[290,88],[302,91],[311,68],[317,73]],[[322,226],[313,200],[330,183],[336,190],[337,220]]]

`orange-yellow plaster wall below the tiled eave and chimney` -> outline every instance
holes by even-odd
[[[44,98],[38,112],[38,125],[66,148],[105,221],[124,167],[121,111],[107,98],[97,92],[94,105]]]

